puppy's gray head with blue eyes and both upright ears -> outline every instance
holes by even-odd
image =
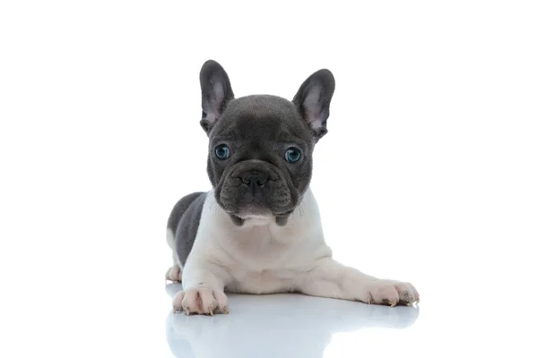
[[[218,204],[237,225],[251,217],[285,225],[308,189],[312,152],[327,132],[333,74],[313,73],[292,101],[234,98],[228,74],[214,61],[203,65],[200,84],[207,173]]]

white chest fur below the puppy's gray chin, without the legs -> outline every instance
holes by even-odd
[[[236,226],[210,192],[185,274],[205,261],[226,273],[229,291],[291,291],[314,261],[330,254],[317,202],[309,189],[285,226],[276,225],[272,217],[251,217]]]

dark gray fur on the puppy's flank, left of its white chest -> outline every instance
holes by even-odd
[[[206,195],[207,192],[188,194],[176,203],[170,213],[167,227],[174,234],[175,251],[181,266],[185,266],[195,243]]]

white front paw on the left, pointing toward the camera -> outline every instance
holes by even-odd
[[[180,291],[173,300],[174,313],[185,311],[189,314],[228,314],[228,297],[221,290],[209,286],[196,286]]]

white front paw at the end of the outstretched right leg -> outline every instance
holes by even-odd
[[[394,307],[396,304],[412,305],[419,303],[421,296],[417,289],[407,282],[377,280],[365,287],[366,303],[386,304]],[[362,300],[361,300],[362,301]]]

